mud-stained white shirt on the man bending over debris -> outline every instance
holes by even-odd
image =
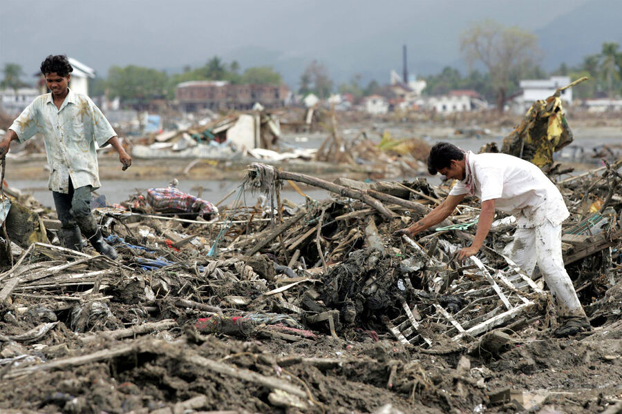
[[[466,174],[449,195],[471,194],[516,217],[519,228],[550,221],[558,226],[569,216],[564,199],[551,180],[529,161],[507,154],[465,153]]]

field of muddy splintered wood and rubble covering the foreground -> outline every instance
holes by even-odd
[[[393,237],[449,192],[425,179],[252,164],[228,204],[131,195],[94,210],[115,261],[59,246],[53,212],[4,188],[0,409],[620,413],[618,168],[557,180],[565,263],[593,326],[564,339],[542,279],[503,255],[512,217],[498,213],[465,264],[475,200],[416,240]],[[283,181],[333,197],[296,205]]]

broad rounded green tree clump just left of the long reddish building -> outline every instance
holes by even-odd
[[[141,66],[113,66],[108,72],[107,85],[112,97],[142,104],[166,97],[169,77],[165,72]]]

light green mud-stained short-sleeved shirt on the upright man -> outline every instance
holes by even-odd
[[[95,143],[102,147],[117,134],[91,98],[69,90],[59,109],[51,93],[41,95],[21,112],[10,129],[19,142],[36,133],[44,136],[50,190],[68,193],[69,177],[73,188],[100,188]]]

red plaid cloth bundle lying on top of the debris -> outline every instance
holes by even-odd
[[[198,213],[203,217],[218,214],[218,207],[214,204],[173,187],[149,188],[147,190],[147,202],[156,211],[180,210],[187,213]]]

